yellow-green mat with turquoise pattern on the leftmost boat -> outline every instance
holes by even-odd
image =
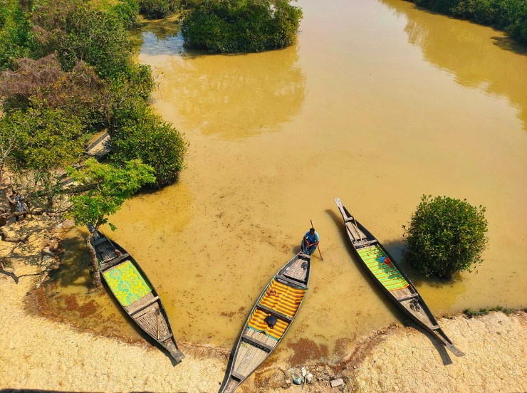
[[[108,286],[123,306],[130,305],[152,292],[152,288],[130,261],[121,263],[103,274]]]

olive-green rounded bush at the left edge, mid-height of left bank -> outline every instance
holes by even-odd
[[[50,108],[16,110],[0,118],[0,132],[14,137],[9,164],[21,169],[51,170],[77,162],[87,139],[77,117]]]

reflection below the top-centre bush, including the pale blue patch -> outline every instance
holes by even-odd
[[[173,26],[177,31],[177,26]],[[140,60],[162,70],[160,93],[187,127],[234,140],[276,132],[300,112],[306,75],[296,46],[245,55],[184,51],[181,34],[142,33]]]

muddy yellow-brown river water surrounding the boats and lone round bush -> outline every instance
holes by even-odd
[[[486,206],[476,273],[445,283],[408,271],[436,314],[525,306],[527,49],[400,0],[298,4],[302,32],[283,51],[207,56],[185,53],[170,21],[142,32],[154,106],[186,133],[188,169],[125,204],[111,236],[157,286],[176,337],[232,345],[310,219],[324,261],[313,258],[287,343],[333,353],[338,339],[401,322],[350,256],[335,197],[397,258],[422,194]]]

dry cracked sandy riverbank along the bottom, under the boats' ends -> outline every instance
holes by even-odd
[[[35,265],[14,259],[0,272],[0,389],[75,392],[216,392],[229,350],[182,343],[187,357],[174,367],[147,342],[79,332],[28,312],[36,284]],[[28,276],[24,276],[28,275]],[[24,276],[24,277],[22,277]],[[15,278],[17,277],[17,278]],[[311,384],[291,384],[288,362],[266,362],[240,392],[335,392],[330,380],[343,378],[355,392],[523,392],[527,389],[527,314],[493,312],[439,321],[466,353],[449,354],[413,327],[391,325],[364,337],[337,365],[308,363]],[[277,351],[278,352],[278,351]],[[300,366],[299,366],[300,367]],[[339,387],[341,391],[343,387]]]

